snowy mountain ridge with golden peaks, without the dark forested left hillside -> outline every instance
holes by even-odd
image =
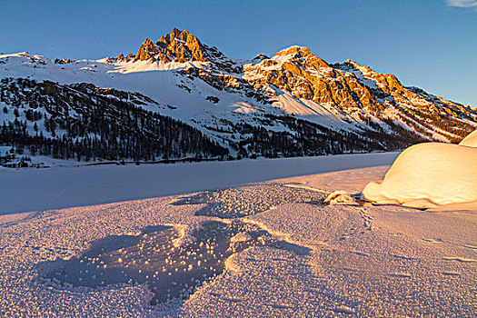
[[[459,142],[477,127],[477,111],[470,106],[405,86],[395,75],[377,73],[353,60],[330,64],[298,45],[272,57],[231,59],[175,28],[156,42],[145,39],[135,55],[125,57],[74,61],[27,53],[0,55],[0,78],[10,84],[14,79],[33,81],[33,86],[52,81],[65,90],[93,84],[107,98],[142,95],[148,102],[139,106],[146,111],[191,125],[231,157],[399,150],[422,141]],[[8,114],[15,108],[17,113],[32,108],[31,99],[8,102],[7,94],[26,94],[13,84],[8,87],[0,100]],[[39,107],[48,113],[55,98],[45,98],[50,104]],[[26,113],[20,113],[15,118],[4,113],[0,124],[26,120]],[[35,134],[31,128],[26,130]],[[66,131],[59,134],[69,136]],[[0,143],[12,141],[0,136]],[[225,152],[220,153],[224,157]]]

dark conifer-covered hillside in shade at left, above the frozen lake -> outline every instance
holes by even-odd
[[[108,90],[106,96],[93,84],[25,78],[5,78],[0,87],[0,101],[8,105],[0,144],[27,147],[32,154],[86,161],[228,154],[194,127],[138,106],[155,103],[141,94]]]

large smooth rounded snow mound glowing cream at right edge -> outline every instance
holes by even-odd
[[[461,144],[415,144],[398,156],[383,182],[367,184],[363,196],[376,204],[467,209],[477,205],[476,163],[477,130]]]

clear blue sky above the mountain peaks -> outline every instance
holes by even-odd
[[[0,52],[97,59],[186,28],[225,55],[309,46],[477,106],[477,0],[0,0]]]

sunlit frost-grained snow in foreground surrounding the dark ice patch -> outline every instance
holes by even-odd
[[[0,215],[0,316],[475,316],[475,210],[429,214],[402,206],[320,203],[337,189],[349,194],[359,192],[370,180],[382,179],[387,168],[274,180],[209,193],[200,196],[202,201],[182,195]],[[204,215],[204,209],[213,214]],[[233,253],[224,261],[223,273],[175,303],[149,304],[154,289],[150,292],[142,283],[88,287],[38,278],[37,269],[42,263],[77,262],[90,243],[112,235],[137,235],[146,227],[165,224],[176,224],[173,237],[187,235],[204,228],[207,222],[231,222],[218,216],[237,209],[244,214],[254,213],[238,218],[243,224],[259,226],[285,243],[282,247],[257,245]],[[250,241],[250,237],[256,239],[244,230],[234,236],[234,246]],[[110,253],[121,253],[121,258],[107,262],[107,268],[102,262],[110,253],[86,259],[94,263],[91,267],[97,264],[98,268],[82,277],[91,279],[88,276],[101,271],[114,273],[114,268],[121,267],[124,273],[127,268],[150,270],[147,263],[154,259],[148,248],[159,253],[164,246],[169,246],[168,253],[180,249],[171,243],[150,245],[149,238],[153,239],[154,233],[137,242],[132,250],[117,246],[122,248]],[[198,240],[204,238],[209,240]],[[219,250],[213,241],[204,245],[200,253],[165,259],[167,270],[173,266],[195,268],[198,261]],[[71,268],[65,274],[78,275]],[[101,275],[96,279],[104,280]],[[164,288],[173,288],[175,283],[179,282],[165,284]]]

